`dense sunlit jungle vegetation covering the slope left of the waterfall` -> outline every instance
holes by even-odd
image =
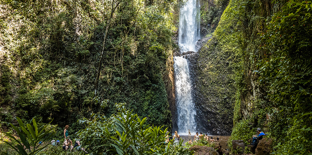
[[[71,124],[73,134],[79,118],[100,111],[96,96],[109,100],[107,116],[126,102],[148,124],[170,127],[174,7],[171,0],[1,1],[1,125],[37,116],[60,130]]]

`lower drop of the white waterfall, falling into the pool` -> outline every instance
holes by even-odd
[[[195,107],[191,96],[191,80],[188,62],[183,57],[174,57],[175,90],[178,114],[178,131],[181,135],[188,135],[196,130]]]

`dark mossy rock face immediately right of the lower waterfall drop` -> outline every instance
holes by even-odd
[[[210,134],[229,135],[235,102],[234,73],[230,55],[215,42],[210,40],[198,51],[196,67],[192,67],[197,126]]]

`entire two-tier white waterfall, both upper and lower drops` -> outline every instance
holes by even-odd
[[[179,45],[182,52],[196,51],[195,42],[199,35],[199,2],[186,0],[180,9]],[[188,135],[188,129],[194,134],[196,131],[195,103],[192,100],[192,84],[189,75],[188,60],[174,57],[174,74],[177,108],[177,128],[180,135]]]

